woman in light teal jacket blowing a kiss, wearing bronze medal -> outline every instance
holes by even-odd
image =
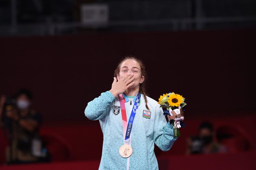
[[[126,57],[115,70],[111,90],[85,108],[86,117],[99,120],[103,132],[99,169],[158,169],[154,143],[168,151],[177,139],[158,102],[144,94],[145,78],[143,63]]]

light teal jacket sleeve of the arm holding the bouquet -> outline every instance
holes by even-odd
[[[154,142],[162,150],[168,151],[171,149],[177,137],[173,137],[173,125],[166,122],[165,115],[163,115],[160,105],[156,107],[155,125],[154,125]]]

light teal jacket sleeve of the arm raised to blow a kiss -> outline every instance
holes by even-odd
[[[90,101],[85,110],[85,116],[90,120],[100,120],[106,116],[111,109],[111,104],[115,97],[110,91],[101,93],[101,95],[93,101]]]

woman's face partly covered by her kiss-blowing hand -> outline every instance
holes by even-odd
[[[119,81],[128,73],[133,74],[134,84],[130,88],[140,86],[140,83],[144,81],[144,76],[141,75],[140,64],[136,60],[125,60],[120,67],[119,75],[117,75],[117,80]]]

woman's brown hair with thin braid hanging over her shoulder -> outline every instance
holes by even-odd
[[[145,71],[145,66],[144,66],[143,62],[142,62],[140,59],[138,59],[138,58],[136,58],[136,57],[134,57],[134,56],[125,56],[125,58],[122,59],[122,60],[118,63],[118,65],[117,65],[117,67],[116,67],[116,69],[115,69],[115,72],[114,72],[114,76],[115,76],[115,77],[119,74],[119,72],[120,72],[120,67],[121,67],[122,63],[123,63],[125,60],[135,60],[135,61],[137,61],[137,62],[140,64],[140,67],[141,67],[141,76],[146,77],[146,71]],[[145,78],[145,79],[146,79],[146,78]],[[143,94],[144,99],[145,99],[145,103],[146,103],[146,108],[147,108],[148,110],[150,110],[150,108],[147,106],[147,97],[146,97],[146,92],[145,92],[145,91],[146,91],[145,79],[144,79],[144,81],[143,81],[142,83],[140,83],[139,93]]]

